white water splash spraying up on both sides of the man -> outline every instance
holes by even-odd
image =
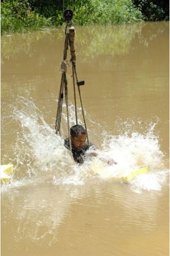
[[[63,107],[65,108],[65,105]],[[69,109],[71,125],[73,125],[73,105],[70,104]],[[66,126],[64,111],[62,115]],[[87,113],[86,115],[88,116]],[[21,180],[23,183],[31,182],[33,178],[33,182],[46,180],[46,182],[53,182],[56,185],[82,186],[89,179],[102,179],[99,173],[94,173],[91,169],[94,158],[87,159],[82,166],[74,163],[69,150],[63,145],[63,138],[56,135],[54,129],[45,122],[43,113],[36,107],[32,99],[19,97],[16,100],[13,118],[20,123],[21,127],[15,145],[17,164],[13,183]],[[81,109],[78,109],[78,118],[81,123]],[[118,123],[118,120],[116,122]],[[103,150],[98,151],[95,161],[100,161],[99,159],[103,157],[113,159],[117,163],[112,166],[105,162],[100,163],[105,172],[109,173],[107,178],[114,178],[122,171],[128,173],[143,166],[147,166],[149,172],[162,171],[162,175],[165,175],[165,173],[163,174],[165,170],[164,154],[160,150],[158,137],[154,135],[156,124],[151,123],[146,134],[130,133],[128,122],[125,124],[127,129],[123,134],[111,135],[103,131]],[[100,126],[99,129],[101,129]],[[147,177],[149,176],[147,175]],[[159,190],[162,183],[155,181],[155,185],[151,185],[148,189]],[[142,177],[135,179],[131,187],[134,188],[135,184],[137,187],[147,189]]]

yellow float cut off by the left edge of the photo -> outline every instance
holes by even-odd
[[[1,184],[11,183],[13,164],[1,165]]]

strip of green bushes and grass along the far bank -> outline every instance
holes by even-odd
[[[65,0],[73,25],[110,25],[142,20],[168,20],[168,7],[158,0]],[[161,3],[159,3],[161,2]],[[1,0],[1,33],[59,26],[63,0]]]

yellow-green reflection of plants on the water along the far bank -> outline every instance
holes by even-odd
[[[160,22],[159,22],[160,23]],[[129,53],[131,42],[138,37],[138,43],[148,47],[150,42],[168,30],[168,22],[159,25],[155,29],[156,22],[142,22],[125,25],[76,27],[76,44],[79,46],[78,53],[83,61],[90,60],[88,57],[97,55],[124,55]],[[51,44],[63,43],[64,27],[56,30],[33,32],[3,36],[1,41],[2,63],[4,59],[16,57],[19,54],[30,55],[30,50],[35,42],[41,42],[48,38]],[[18,42],[20,41],[20,44]]]

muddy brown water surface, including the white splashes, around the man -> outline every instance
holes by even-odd
[[[169,255],[169,22],[75,30],[90,140],[116,170],[149,173],[127,184],[64,156],[64,27],[2,36],[1,164],[15,170],[1,186],[1,255]],[[67,79],[74,124],[71,67]]]

